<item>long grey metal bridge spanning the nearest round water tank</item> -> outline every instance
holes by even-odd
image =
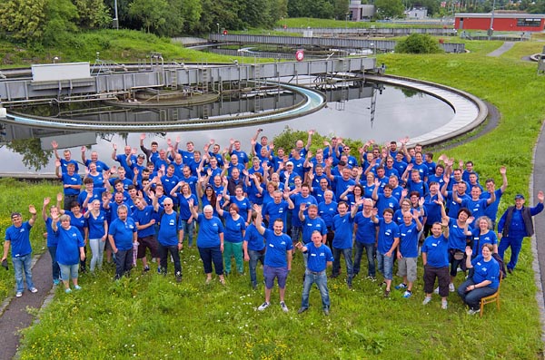
[[[62,72],[63,64],[57,63]],[[5,71],[4,73],[6,73]],[[19,103],[83,102],[131,97],[143,89],[168,88],[183,90],[191,87],[202,92],[223,91],[223,83],[299,83],[302,78],[334,76],[338,73],[375,73],[372,57],[334,58],[304,62],[233,63],[189,65],[155,63],[144,70],[127,71],[127,67],[111,65],[99,74],[38,81],[33,78],[0,80],[0,105]],[[282,82],[286,82],[282,80]]]

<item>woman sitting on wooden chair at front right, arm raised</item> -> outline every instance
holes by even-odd
[[[473,276],[458,287],[458,295],[470,307],[469,315],[477,314],[481,298],[495,294],[500,286],[500,264],[492,258],[492,245],[483,244],[481,255],[471,260],[472,252],[466,248],[466,267],[473,268]]]

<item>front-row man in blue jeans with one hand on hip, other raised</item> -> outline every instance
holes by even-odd
[[[312,243],[309,242],[306,245],[302,245],[301,242],[298,242],[296,246],[308,258],[304,271],[301,307],[297,313],[301,314],[309,308],[309,296],[312,284],[316,284],[316,287],[320,290],[320,296],[322,297],[323,314],[328,316],[331,304],[325,269],[332,266],[332,250],[322,243],[322,234],[318,230],[312,231]]]

